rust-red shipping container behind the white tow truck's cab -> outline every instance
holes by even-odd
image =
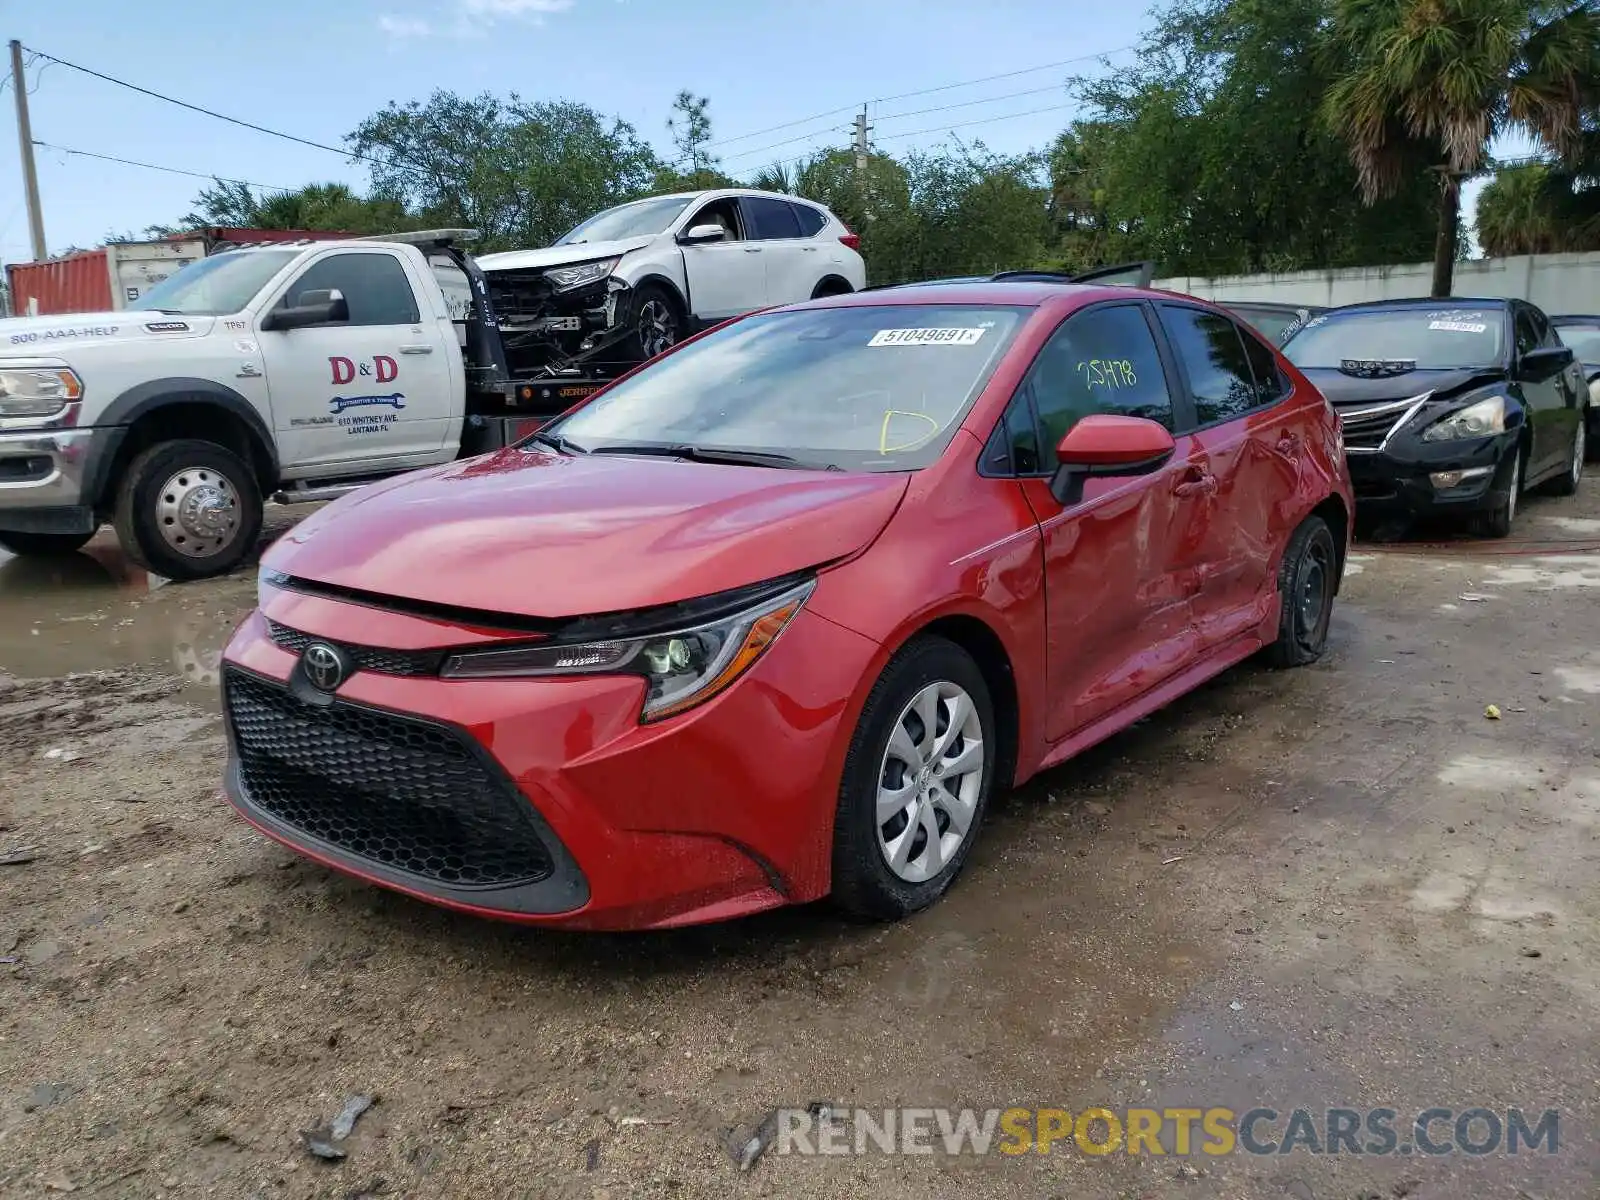
[[[312,229],[197,229],[160,242],[134,242],[83,250],[43,262],[13,262],[11,315],[114,312],[187,262],[238,245],[323,242],[352,237]]]

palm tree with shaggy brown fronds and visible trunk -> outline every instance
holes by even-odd
[[[1448,296],[1461,181],[1510,126],[1560,157],[1581,142],[1600,93],[1592,0],[1334,0],[1325,112],[1347,142],[1368,203],[1411,171],[1438,173],[1434,296]]]

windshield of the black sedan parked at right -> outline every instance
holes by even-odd
[[[1504,333],[1502,309],[1357,309],[1312,317],[1283,355],[1301,370],[1338,370],[1350,360],[1402,362],[1419,371],[1498,366]]]

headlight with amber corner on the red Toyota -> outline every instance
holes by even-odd
[[[642,720],[672,717],[704,704],[755,666],[800,611],[814,579],[691,629],[557,646],[469,650],[445,659],[445,678],[526,675],[640,675]]]

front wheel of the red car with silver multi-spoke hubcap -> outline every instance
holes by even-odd
[[[898,920],[942,896],[989,808],[994,704],[971,656],[922,637],[883,669],[856,723],[834,819],[834,902]]]

